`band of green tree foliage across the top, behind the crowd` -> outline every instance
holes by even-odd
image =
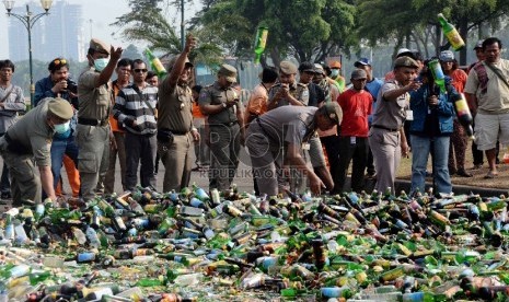
[[[114,24],[128,40],[177,54],[182,48],[165,9],[181,10],[181,0],[128,0],[131,12]],[[449,47],[437,20],[442,12],[468,42],[474,31],[498,28],[509,0],[185,0],[201,9],[190,19],[189,30],[199,39],[194,58],[205,62],[223,57],[252,58],[258,26],[268,26],[265,56],[275,65],[293,57],[298,61],[323,61],[327,56],[359,51],[361,42],[412,47],[426,57]],[[479,31],[481,33],[481,31]],[[482,38],[481,36],[475,37]],[[395,54],[394,54],[395,55]],[[466,49],[461,53],[464,63]]]

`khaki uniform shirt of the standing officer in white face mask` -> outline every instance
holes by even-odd
[[[90,118],[105,120],[109,116],[111,111],[111,83],[95,88],[95,80],[100,73],[95,68],[90,67],[84,70],[78,79],[78,95],[80,111],[78,118]]]

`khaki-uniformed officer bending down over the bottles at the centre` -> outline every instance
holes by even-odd
[[[310,179],[310,188],[320,194],[322,187],[334,187],[316,129],[327,130],[340,125],[342,108],[336,102],[322,107],[286,106],[257,117],[247,128],[246,146],[250,150],[254,176],[261,194],[278,194],[278,166],[282,158]],[[310,160],[303,158],[303,146],[310,146]],[[285,150],[284,149],[285,147]]]

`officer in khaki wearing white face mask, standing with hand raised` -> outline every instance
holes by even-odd
[[[92,38],[86,55],[89,68],[78,79],[78,170],[85,201],[94,197],[100,177],[104,178],[108,167],[109,139],[113,140],[108,124],[112,95],[109,78],[122,51],[120,47],[115,49],[102,40]]]

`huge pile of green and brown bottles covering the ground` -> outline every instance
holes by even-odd
[[[12,208],[0,301],[505,301],[507,201],[233,186]]]

